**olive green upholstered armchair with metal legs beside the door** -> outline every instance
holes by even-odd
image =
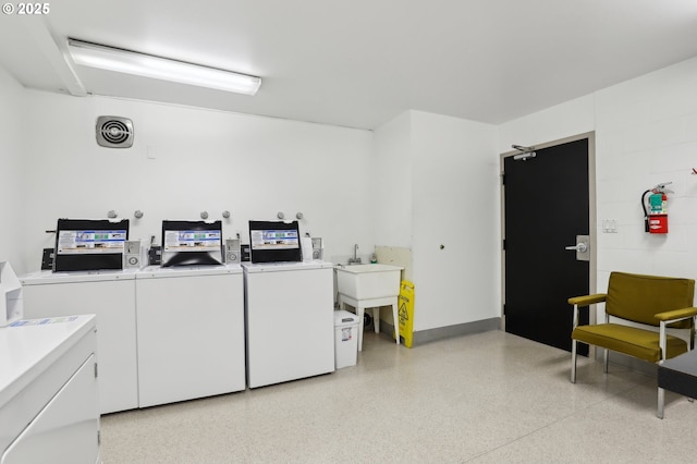
[[[661,363],[692,350],[695,346],[697,322],[697,308],[693,307],[694,294],[693,279],[612,272],[608,293],[568,298],[568,303],[574,305],[572,383],[576,383],[577,342],[604,349],[604,373],[608,373],[609,351]],[[579,308],[602,302],[606,304],[604,323],[579,326]],[[682,338],[668,334],[667,328],[685,329],[689,346]],[[660,388],[658,417],[663,418],[663,389]]]

